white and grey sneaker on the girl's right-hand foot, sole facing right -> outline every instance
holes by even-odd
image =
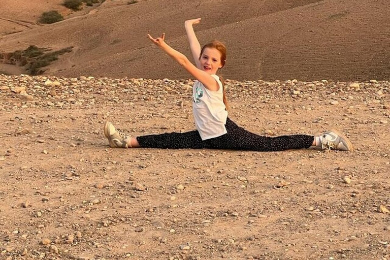
[[[353,151],[352,143],[345,136],[341,135],[336,130],[323,133],[319,140],[321,141],[321,149]]]

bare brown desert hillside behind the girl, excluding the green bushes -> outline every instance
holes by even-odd
[[[221,74],[236,80],[369,80],[390,77],[388,2],[106,1],[89,12],[0,38],[0,51],[37,45],[71,53],[45,74],[78,77],[188,78],[146,34],[190,56],[184,21],[201,17],[201,44],[226,43]],[[0,68],[1,69],[1,68]]]

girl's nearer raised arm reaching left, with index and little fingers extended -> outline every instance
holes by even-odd
[[[151,35],[148,34],[149,39],[157,45],[161,50],[165,51],[169,56],[171,56],[177,63],[180,64],[189,74],[191,74],[194,78],[202,82],[202,84],[211,91],[217,91],[219,89],[219,85],[217,81],[211,77],[211,75],[206,72],[195,67],[188,58],[183,54],[169,46],[165,40],[165,34],[161,35],[154,39]]]

